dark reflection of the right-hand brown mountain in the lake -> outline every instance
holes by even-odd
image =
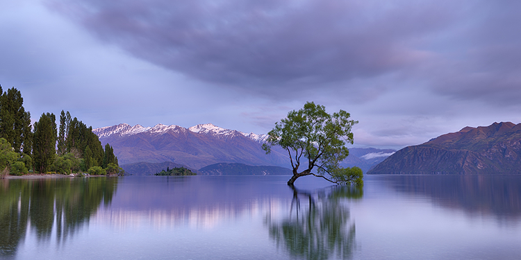
[[[435,205],[469,216],[491,216],[499,223],[521,219],[519,175],[382,176],[396,191],[427,196]]]

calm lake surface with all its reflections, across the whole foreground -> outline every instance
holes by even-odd
[[[0,259],[520,259],[521,176],[0,180]]]

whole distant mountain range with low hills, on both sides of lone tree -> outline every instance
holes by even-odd
[[[220,128],[211,123],[190,128],[162,124],[143,127],[122,123],[96,128],[92,132],[99,137],[101,144],[108,143],[113,147],[119,164],[133,174],[154,174],[165,166],[185,166],[198,172],[205,166],[213,165],[212,172],[215,174],[226,174],[232,168],[236,171],[240,168],[239,164],[290,168],[285,150],[274,147],[272,153],[266,155],[262,144],[267,135]],[[395,152],[376,148],[350,148],[349,151],[349,157],[341,165],[358,166],[364,172]],[[249,168],[248,171],[280,174],[279,170]],[[208,171],[206,174],[209,174]]]

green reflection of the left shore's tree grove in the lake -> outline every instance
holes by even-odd
[[[15,257],[27,226],[38,241],[58,243],[74,235],[115,194],[117,178],[0,180],[0,258]]]

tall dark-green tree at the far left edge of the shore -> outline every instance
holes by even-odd
[[[31,153],[31,114],[24,109],[24,98],[19,90],[0,87],[0,137],[5,138],[15,152]]]

